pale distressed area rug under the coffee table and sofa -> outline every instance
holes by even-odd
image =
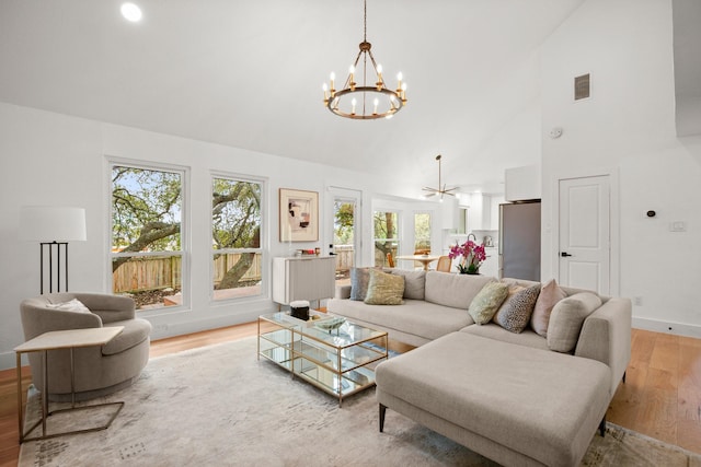
[[[131,387],[92,402],[114,400],[126,405],[110,429],[24,443],[20,467],[496,465],[392,411],[379,433],[375,388],[340,408],[258,361],[255,338],[152,359]],[[61,422],[100,417],[73,412]],[[701,456],[609,424],[582,465],[701,466]]]

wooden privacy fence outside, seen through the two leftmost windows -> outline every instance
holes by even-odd
[[[237,264],[240,254],[218,255],[215,259],[215,283]],[[115,293],[139,292],[158,289],[180,289],[182,285],[182,258],[180,256],[149,256],[131,258],[112,273],[112,290]],[[255,255],[253,264],[241,281],[261,280],[261,255]]]

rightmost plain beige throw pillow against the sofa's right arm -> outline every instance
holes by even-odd
[[[575,293],[558,302],[548,325],[548,348],[555,352],[572,352],[579,340],[584,319],[599,306],[601,299],[591,292]]]

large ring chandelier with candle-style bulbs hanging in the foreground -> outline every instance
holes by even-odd
[[[390,90],[382,78],[382,66],[375,61],[372,45],[367,40],[368,5],[364,0],[363,42],[360,51],[348,69],[348,78],[341,90],[336,90],[335,73],[331,73],[330,83],[324,83],[324,105],[334,114],[358,120],[375,118],[392,118],[404,105],[406,105],[406,83],[402,82],[402,73],[397,75],[395,90]],[[368,58],[370,66],[368,66]],[[360,65],[360,70],[358,69]],[[368,71],[371,77],[368,77]],[[372,74],[374,73],[374,74]],[[356,78],[360,77],[363,83],[358,85]],[[374,82],[372,82],[374,80]],[[368,85],[370,83],[370,85]]]

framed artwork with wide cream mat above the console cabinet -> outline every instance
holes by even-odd
[[[319,194],[280,188],[280,242],[319,241]]]

